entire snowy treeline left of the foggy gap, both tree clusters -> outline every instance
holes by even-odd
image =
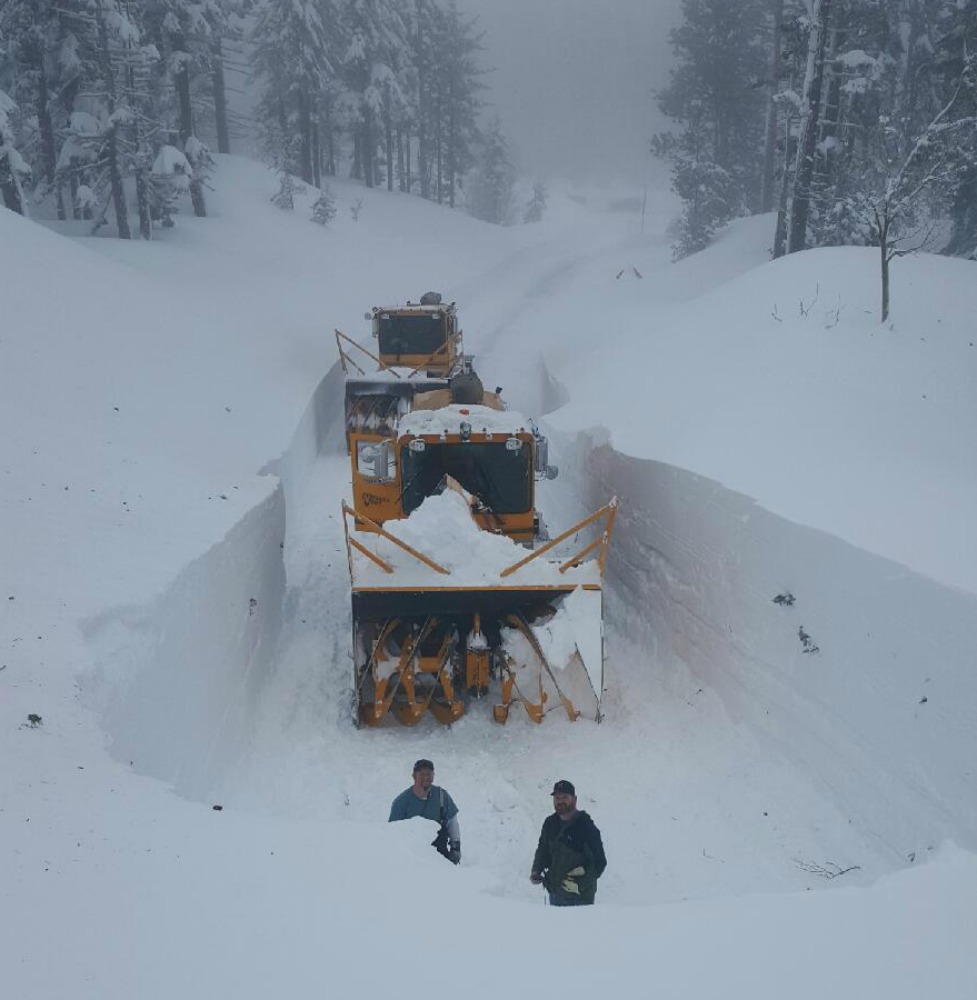
[[[133,208],[148,239],[186,192],[206,214],[209,147],[234,132],[229,65],[255,89],[280,204],[293,175],[342,175],[505,222],[513,170],[498,123],[478,125],[479,39],[455,0],[0,0],[2,203],[124,238]]]

